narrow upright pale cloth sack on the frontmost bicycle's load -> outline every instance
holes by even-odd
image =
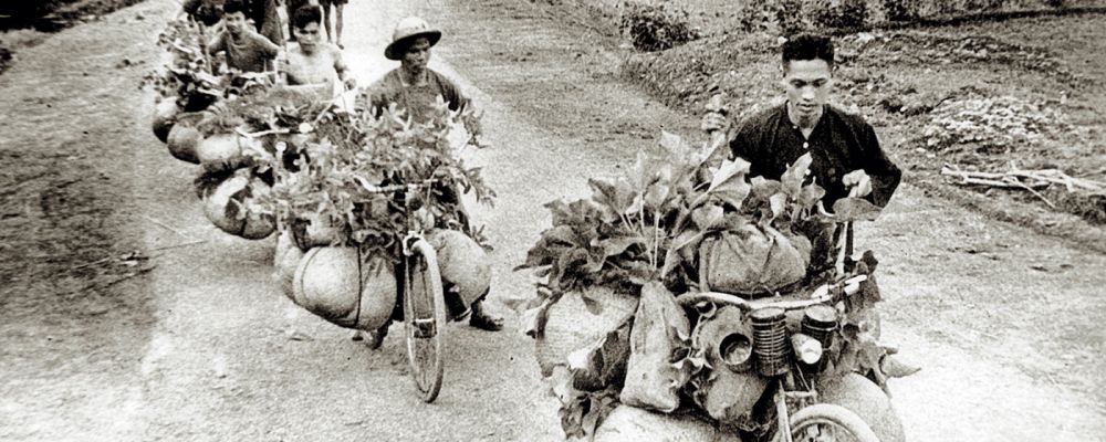
[[[684,309],[664,284],[641,287],[641,301],[630,329],[630,355],[626,385],[619,400],[627,406],[671,412],[680,404],[679,391],[691,377],[687,364],[672,364],[684,347],[680,336],[690,335]]]

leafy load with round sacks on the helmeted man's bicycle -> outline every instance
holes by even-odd
[[[435,246],[453,313],[487,292],[482,229],[468,223],[460,194],[490,204],[494,192],[449,140],[458,125],[473,139],[470,110],[442,102],[414,124],[395,107],[377,115],[313,103],[259,117],[264,127],[249,135],[265,148],[252,154],[252,173],[271,176],[272,186],[243,207],[279,225],[276,277],[293,302],[336,325],[376,330],[395,312],[411,231]]]

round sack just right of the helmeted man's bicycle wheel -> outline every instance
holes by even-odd
[[[426,234],[438,253],[438,270],[447,294],[456,293],[462,305],[471,305],[491,287],[491,257],[469,235],[448,229]]]

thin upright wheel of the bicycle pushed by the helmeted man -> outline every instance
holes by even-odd
[[[434,402],[445,372],[446,299],[437,253],[425,240],[411,245],[404,266],[404,332],[415,388]]]

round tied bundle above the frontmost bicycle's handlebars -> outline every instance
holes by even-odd
[[[800,283],[810,263],[805,236],[744,224],[703,240],[699,284],[714,292],[771,295]]]

